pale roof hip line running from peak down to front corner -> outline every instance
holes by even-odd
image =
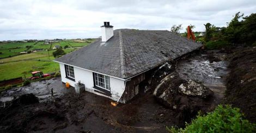
[[[121,30],[119,30],[118,32],[119,32],[121,78],[125,78],[126,77],[126,75],[125,75],[126,67],[125,67],[125,58],[124,58],[123,37],[122,37]]]

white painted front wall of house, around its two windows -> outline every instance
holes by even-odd
[[[59,63],[60,67],[60,74],[62,75],[62,82],[68,82],[72,87],[75,87],[75,84],[78,81],[81,81],[86,86],[86,91],[92,92],[94,94],[105,96],[108,98],[113,99],[114,101],[118,101],[125,89],[125,81],[113,77],[109,77],[110,88],[111,88],[111,96],[102,95],[98,92],[94,91],[94,83],[93,83],[93,72],[88,70],[83,70],[81,68],[76,68],[74,66],[74,74],[75,74],[75,82],[71,81],[70,79],[66,78],[65,73],[65,65],[63,63]],[[119,101],[124,103],[125,101]]]

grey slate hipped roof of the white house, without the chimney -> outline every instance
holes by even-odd
[[[129,78],[202,46],[163,30],[114,30],[107,42],[98,41],[55,59],[119,78]]]

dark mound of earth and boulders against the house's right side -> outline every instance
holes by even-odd
[[[162,79],[154,91],[157,101],[178,112],[177,117],[182,122],[190,122],[199,110],[209,111],[212,94],[202,83],[185,81],[175,72]]]

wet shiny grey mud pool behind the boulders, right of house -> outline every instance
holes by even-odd
[[[194,79],[202,82],[215,92],[215,96],[224,97],[225,79],[228,74],[229,61],[224,61],[225,54],[200,54],[178,63],[176,71],[183,79]]]

